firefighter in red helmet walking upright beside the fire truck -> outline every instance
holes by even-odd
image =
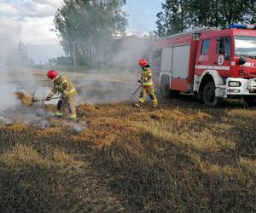
[[[152,100],[152,107],[157,107],[158,102],[156,95],[154,94],[154,83],[152,81],[152,71],[150,66],[148,65],[148,61],[145,59],[139,60],[139,66],[142,67],[142,76],[139,79],[139,83],[142,83],[142,90],[140,94],[140,99],[137,103],[134,104],[136,107],[142,107],[146,95],[148,94],[150,99]]]

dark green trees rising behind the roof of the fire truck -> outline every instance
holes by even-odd
[[[196,26],[226,28],[233,22],[256,20],[255,0],[166,0],[157,14],[157,35],[168,36]]]

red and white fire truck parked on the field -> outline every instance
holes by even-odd
[[[194,93],[209,107],[256,100],[256,26],[198,28],[152,43],[151,66],[165,95]]]

